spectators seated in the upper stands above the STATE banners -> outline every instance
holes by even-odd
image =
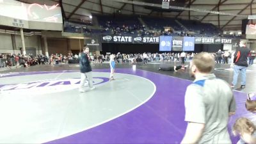
[[[117,24],[118,23],[118,24]],[[129,23],[129,22],[128,22]],[[203,28],[198,31],[194,31],[192,28],[185,29],[183,26],[180,26],[180,28],[176,28],[177,26],[170,26],[170,29],[164,29],[161,27],[154,28],[152,26],[149,26],[146,28],[143,24],[140,24],[138,22],[134,22],[134,24],[126,24],[123,22],[120,24],[120,21],[113,20],[102,20],[102,23],[99,26],[99,29],[90,29],[88,26],[90,25],[72,25],[71,22],[65,22],[64,30],[67,32],[74,32],[74,33],[105,33],[105,34],[113,34],[113,35],[138,35],[138,36],[161,36],[161,35],[174,35],[174,36],[214,36],[221,34],[218,34],[218,29],[216,28],[216,31],[207,31]],[[199,24],[200,25],[200,24]],[[199,26],[200,27],[200,26]],[[180,29],[179,31],[175,29]],[[209,35],[211,33],[212,35]],[[237,36],[236,36],[237,37]]]

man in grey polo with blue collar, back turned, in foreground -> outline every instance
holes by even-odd
[[[181,143],[231,143],[227,124],[236,102],[228,83],[211,74],[214,65],[207,52],[196,54],[190,63],[189,74],[195,81],[186,90],[188,125]]]

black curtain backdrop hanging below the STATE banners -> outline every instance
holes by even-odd
[[[223,51],[223,44],[195,44],[195,51],[191,52],[217,52],[219,49]],[[124,54],[137,54],[143,52],[151,52],[151,53],[163,53],[159,51],[159,44],[113,44],[113,43],[102,43],[102,54],[106,54],[106,52],[111,52],[116,54],[117,52],[121,52]],[[166,51],[169,52],[169,51]],[[173,51],[172,51],[173,52]],[[181,51],[175,51],[181,52]]]

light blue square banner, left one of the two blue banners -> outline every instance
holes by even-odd
[[[172,51],[172,36],[160,36],[159,51]]]

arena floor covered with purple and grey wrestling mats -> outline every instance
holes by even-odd
[[[0,143],[180,143],[184,95],[193,80],[188,72],[158,71],[153,62],[136,69],[117,64],[116,80],[108,81],[108,64],[92,68],[96,88],[85,93],[78,92],[78,65],[1,68]],[[214,74],[232,81],[229,65],[216,65]],[[256,121],[244,108],[255,77],[253,65],[246,88],[234,90],[237,111],[229,129],[240,116]]]

